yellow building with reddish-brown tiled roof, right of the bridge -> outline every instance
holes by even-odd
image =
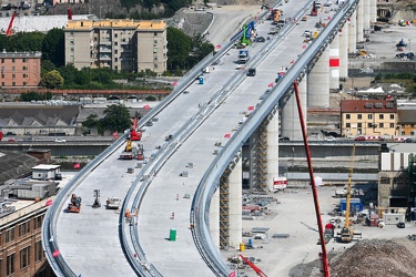
[[[392,100],[341,101],[341,133],[344,136],[398,134],[397,104]]]

